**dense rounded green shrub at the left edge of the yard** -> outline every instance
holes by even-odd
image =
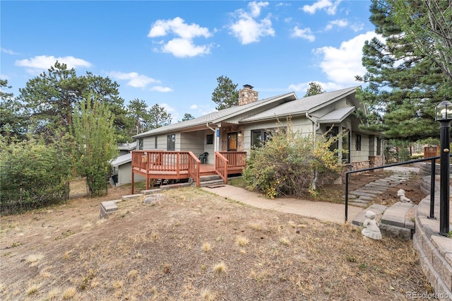
[[[71,158],[57,144],[36,140],[0,144],[2,214],[68,199]]]

